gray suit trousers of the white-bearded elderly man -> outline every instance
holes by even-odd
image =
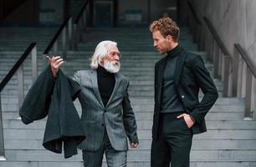
[[[104,153],[108,167],[126,167],[127,151],[115,150],[110,144],[106,130],[100,149],[83,150],[84,167],[101,167]]]

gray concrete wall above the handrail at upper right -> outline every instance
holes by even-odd
[[[246,50],[256,64],[256,0],[193,0],[197,11],[218,29],[229,53],[234,43]]]

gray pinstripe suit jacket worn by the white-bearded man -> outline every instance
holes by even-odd
[[[130,142],[138,142],[136,119],[128,96],[129,81],[115,73],[115,88],[104,106],[97,83],[96,70],[81,70],[73,78],[81,87],[79,102],[82,107],[81,123],[86,139],[79,149],[95,151],[100,148],[105,129],[115,150],[127,150]]]

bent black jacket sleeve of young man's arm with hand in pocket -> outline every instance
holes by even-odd
[[[205,68],[201,56],[197,56],[192,63],[192,71],[196,78],[197,85],[202,89],[202,101],[197,104],[190,115],[197,123],[200,123],[207,112],[212,108],[212,105],[218,99],[218,91],[213,83],[210,74]]]

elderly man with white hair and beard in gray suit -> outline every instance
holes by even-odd
[[[54,77],[58,77],[63,59],[49,58],[49,63]],[[80,70],[73,78],[81,88],[78,98],[86,139],[79,148],[83,149],[84,167],[100,167],[104,153],[108,166],[126,166],[126,136],[132,148],[136,148],[138,138],[136,119],[127,93],[129,81],[118,73],[120,52],[117,43],[100,42],[90,66],[91,70]]]

